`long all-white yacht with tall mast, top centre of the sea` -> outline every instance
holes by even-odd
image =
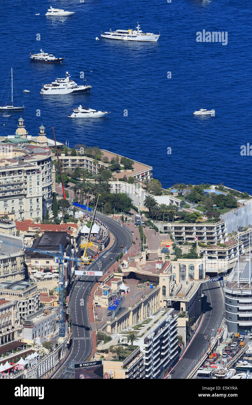
[[[153,32],[142,32],[140,25],[136,26],[135,30],[116,30],[112,31],[111,28],[109,32],[102,32],[102,38],[109,38],[109,39],[122,39],[127,41],[147,41],[147,42],[157,42],[160,37],[159,34],[153,34]]]

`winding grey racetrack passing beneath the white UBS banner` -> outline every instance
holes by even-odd
[[[88,212],[90,214],[90,211]],[[114,220],[108,219],[102,215],[96,215],[109,227],[110,231],[114,234],[115,243],[108,254],[102,257],[97,263],[92,266],[92,271],[104,269],[111,263],[110,258],[115,258],[122,249],[120,245],[125,248],[131,243],[132,237],[130,233]],[[88,292],[93,288],[93,276],[83,276],[75,284],[69,302],[70,316],[72,320],[72,350],[67,358],[67,361],[74,361],[75,363],[83,362],[91,354],[91,330],[89,324],[89,316],[87,309]],[[66,378],[65,375],[66,362],[63,366],[53,375],[52,378]]]

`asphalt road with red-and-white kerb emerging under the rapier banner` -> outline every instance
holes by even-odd
[[[213,329],[217,328],[218,321],[222,315],[224,304],[220,283],[218,281],[215,281],[214,283],[205,283],[203,292],[205,294],[203,305],[203,322],[183,358],[175,367],[174,373],[172,374],[172,379],[180,379],[191,366],[193,361],[201,354],[207,343],[207,340],[204,339],[204,335],[212,335],[214,332]]]

